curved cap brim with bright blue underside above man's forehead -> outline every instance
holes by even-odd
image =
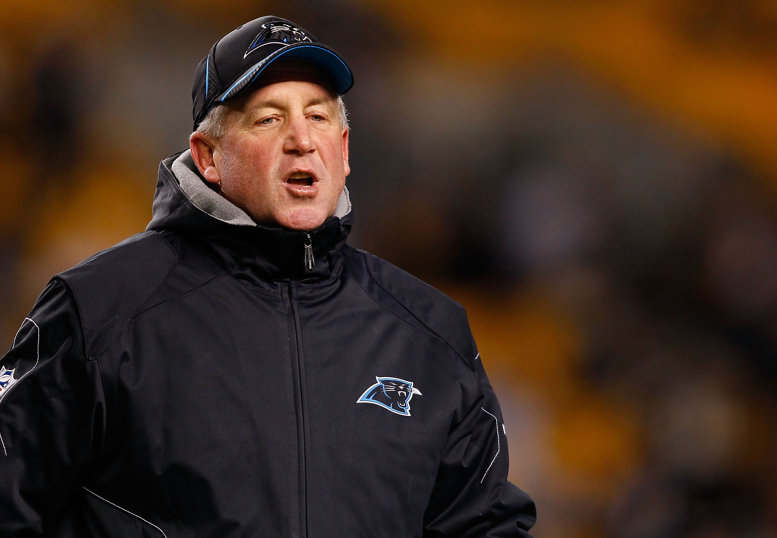
[[[334,85],[337,95],[343,95],[354,85],[354,75],[351,73],[343,58],[334,50],[318,43],[295,43],[280,50],[276,50],[270,56],[264,58],[258,64],[254,64],[240,78],[235,81],[225,92],[214,99],[214,103],[225,102],[246,89],[262,71],[279,58],[284,60],[307,60],[322,68]]]

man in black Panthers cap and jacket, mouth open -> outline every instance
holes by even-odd
[[[352,83],[277,17],[200,63],[147,231],[0,362],[0,536],[528,536],[465,311],[346,244]]]

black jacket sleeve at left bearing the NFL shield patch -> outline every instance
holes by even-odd
[[[58,279],[40,294],[0,359],[0,536],[57,525],[103,428],[97,361]]]

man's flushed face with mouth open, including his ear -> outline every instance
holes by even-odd
[[[257,223],[312,230],[333,214],[350,173],[348,131],[340,127],[336,95],[314,71],[294,64],[271,71],[259,84],[230,103],[225,135],[208,139],[213,169],[195,136],[194,160]]]

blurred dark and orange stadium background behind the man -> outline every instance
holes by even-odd
[[[777,536],[777,4],[665,3],[5,2],[0,343],[145,228],[197,62],[274,14],[354,70],[350,242],[467,308],[533,534]]]

